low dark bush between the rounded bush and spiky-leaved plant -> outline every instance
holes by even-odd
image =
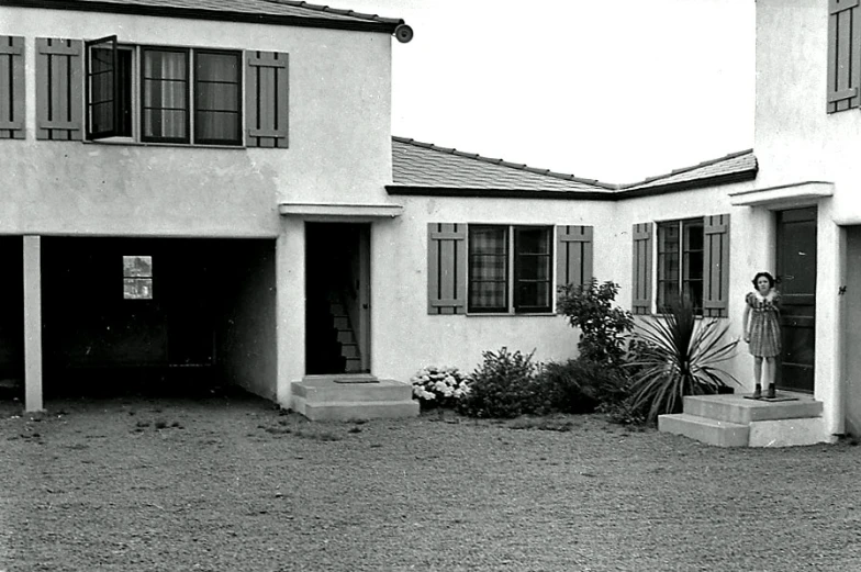
[[[592,413],[627,394],[626,379],[617,368],[583,358],[545,363],[535,384],[541,412]]]

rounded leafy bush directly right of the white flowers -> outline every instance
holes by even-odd
[[[469,392],[458,401],[458,411],[470,417],[512,418],[535,408],[535,372],[528,356],[483,351],[483,363],[470,375]]]

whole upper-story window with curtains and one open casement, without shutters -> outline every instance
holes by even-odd
[[[88,42],[87,136],[242,145],[241,61],[239,52]]]

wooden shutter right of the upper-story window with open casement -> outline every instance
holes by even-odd
[[[287,147],[288,54],[247,52],[247,147]]]

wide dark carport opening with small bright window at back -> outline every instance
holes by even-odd
[[[275,242],[44,237],[47,399],[273,397]]]

